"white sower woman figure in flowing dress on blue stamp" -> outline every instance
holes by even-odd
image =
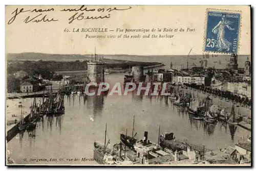
[[[212,29],[212,33],[217,34],[217,44],[216,47],[218,48],[217,51],[222,51],[222,50],[227,50],[229,51],[230,46],[232,43],[230,43],[227,39],[225,39],[225,27],[227,27],[229,30],[234,30],[232,29],[229,25],[231,25],[232,22],[228,21],[226,19],[226,16],[223,15],[221,17],[220,22],[218,25]]]

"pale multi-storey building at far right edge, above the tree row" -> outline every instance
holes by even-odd
[[[228,82],[227,83],[227,90],[231,93],[240,95],[241,97],[248,97],[251,98],[251,85],[246,82]]]

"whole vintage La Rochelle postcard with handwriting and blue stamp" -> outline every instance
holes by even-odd
[[[6,165],[251,166],[250,6],[6,6]]]

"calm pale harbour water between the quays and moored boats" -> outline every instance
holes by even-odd
[[[111,85],[122,84],[123,74],[106,75],[105,80]],[[173,132],[176,139],[212,150],[250,135],[243,128],[221,122],[206,125],[193,120],[164,96],[74,94],[65,96],[65,114],[45,115],[44,121],[37,123],[35,137],[29,137],[28,132],[18,133],[8,142],[7,149],[17,164],[96,164],[92,160],[93,143],[104,142],[105,123],[106,140],[110,140],[108,147],[112,148],[120,142],[120,133],[127,129],[127,134],[132,134],[134,115],[136,138],[143,138],[144,131],[148,131],[148,139],[154,142],[158,140],[159,125],[160,132]]]

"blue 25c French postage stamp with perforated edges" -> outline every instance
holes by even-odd
[[[238,53],[241,14],[207,10],[205,52]]]

